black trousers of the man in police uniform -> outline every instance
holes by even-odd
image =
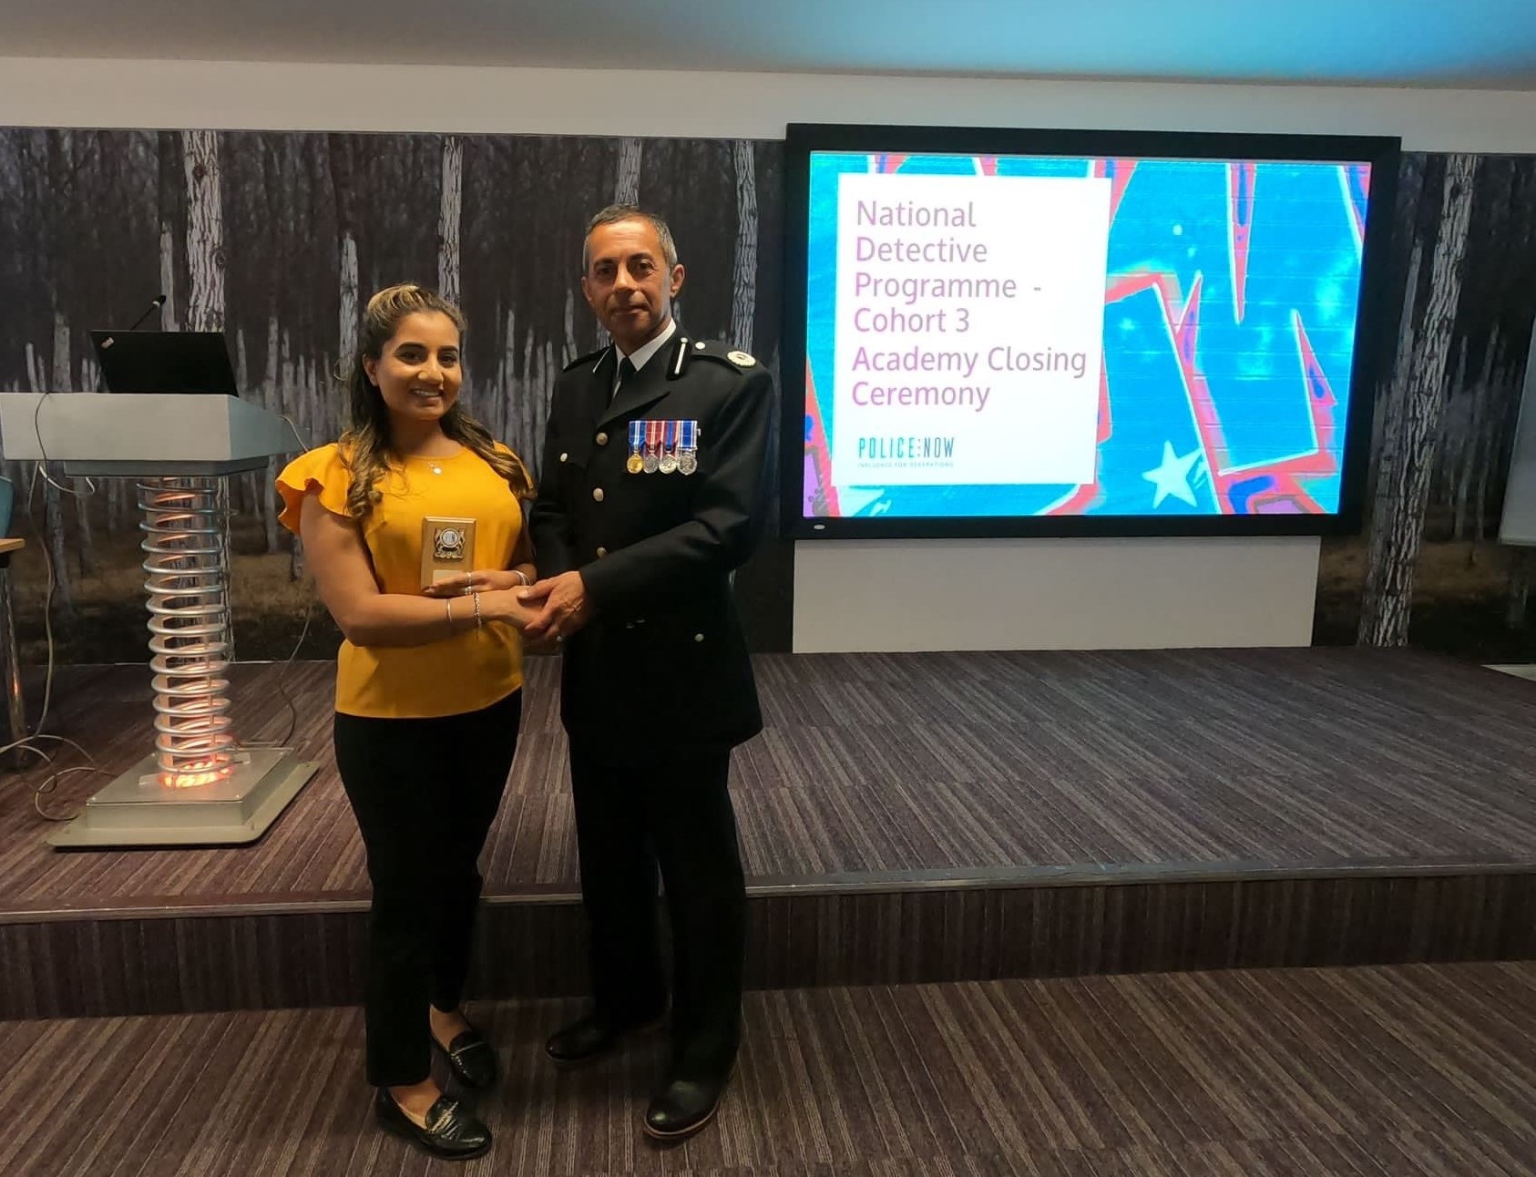
[[[651,748],[644,764],[571,745],[593,1003],[619,1023],[667,1005],[657,870],[671,927],[673,1071],[730,1069],[740,1040],[746,887],[727,781],[728,748]]]

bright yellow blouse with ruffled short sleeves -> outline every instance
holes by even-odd
[[[433,473],[435,467],[442,473]],[[326,510],[346,516],[350,486],[335,444],[303,453],[278,475],[278,518],[296,533],[300,504],[310,490],[318,492]],[[429,515],[475,519],[476,569],[511,565],[522,504],[473,450],[398,463],[378,489],[382,498],[364,521],[362,539],[381,593],[421,593],[421,529]],[[344,641],[336,653],[336,710],[343,714],[461,714],[490,707],[521,685],[522,636],[504,624],[444,635],[425,645],[366,647]]]

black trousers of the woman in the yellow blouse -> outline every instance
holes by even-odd
[[[456,1010],[479,907],[479,853],[507,788],[522,691],[439,719],[338,714],[336,767],[369,853],[367,1076],[432,1074],[430,1002]]]

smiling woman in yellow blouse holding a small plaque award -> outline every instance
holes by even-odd
[[[432,1051],[467,1086],[496,1079],[495,1051],[459,1000],[476,859],[522,713],[519,628],[530,612],[515,590],[536,579],[522,515],[528,472],[458,404],[462,330],[458,307],[432,290],[373,295],[350,378],[350,429],[278,478],[283,524],[303,538],[319,598],[346,636],[335,748],[373,884],[366,1023],[375,1116],[450,1159],[490,1148],[485,1125],[433,1082]],[[430,519],[450,521],[447,539]],[[455,519],[473,519],[473,538]],[[432,535],[433,558],[468,555],[478,572],[422,590]]]

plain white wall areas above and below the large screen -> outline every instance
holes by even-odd
[[[18,126],[777,138],[785,123],[1401,135],[1536,152],[1536,92],[0,58]],[[699,261],[694,260],[697,266]],[[797,650],[1304,645],[1319,544],[800,544]]]

